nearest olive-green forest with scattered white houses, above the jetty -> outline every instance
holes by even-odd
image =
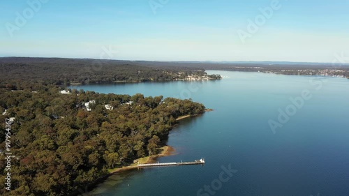
[[[54,85],[11,89],[0,89],[1,160],[6,157],[5,122],[15,118],[9,139],[11,191],[3,187],[8,171],[1,161],[0,195],[69,195],[110,168],[156,153],[177,117],[205,112],[200,103],[162,96],[62,94]]]

